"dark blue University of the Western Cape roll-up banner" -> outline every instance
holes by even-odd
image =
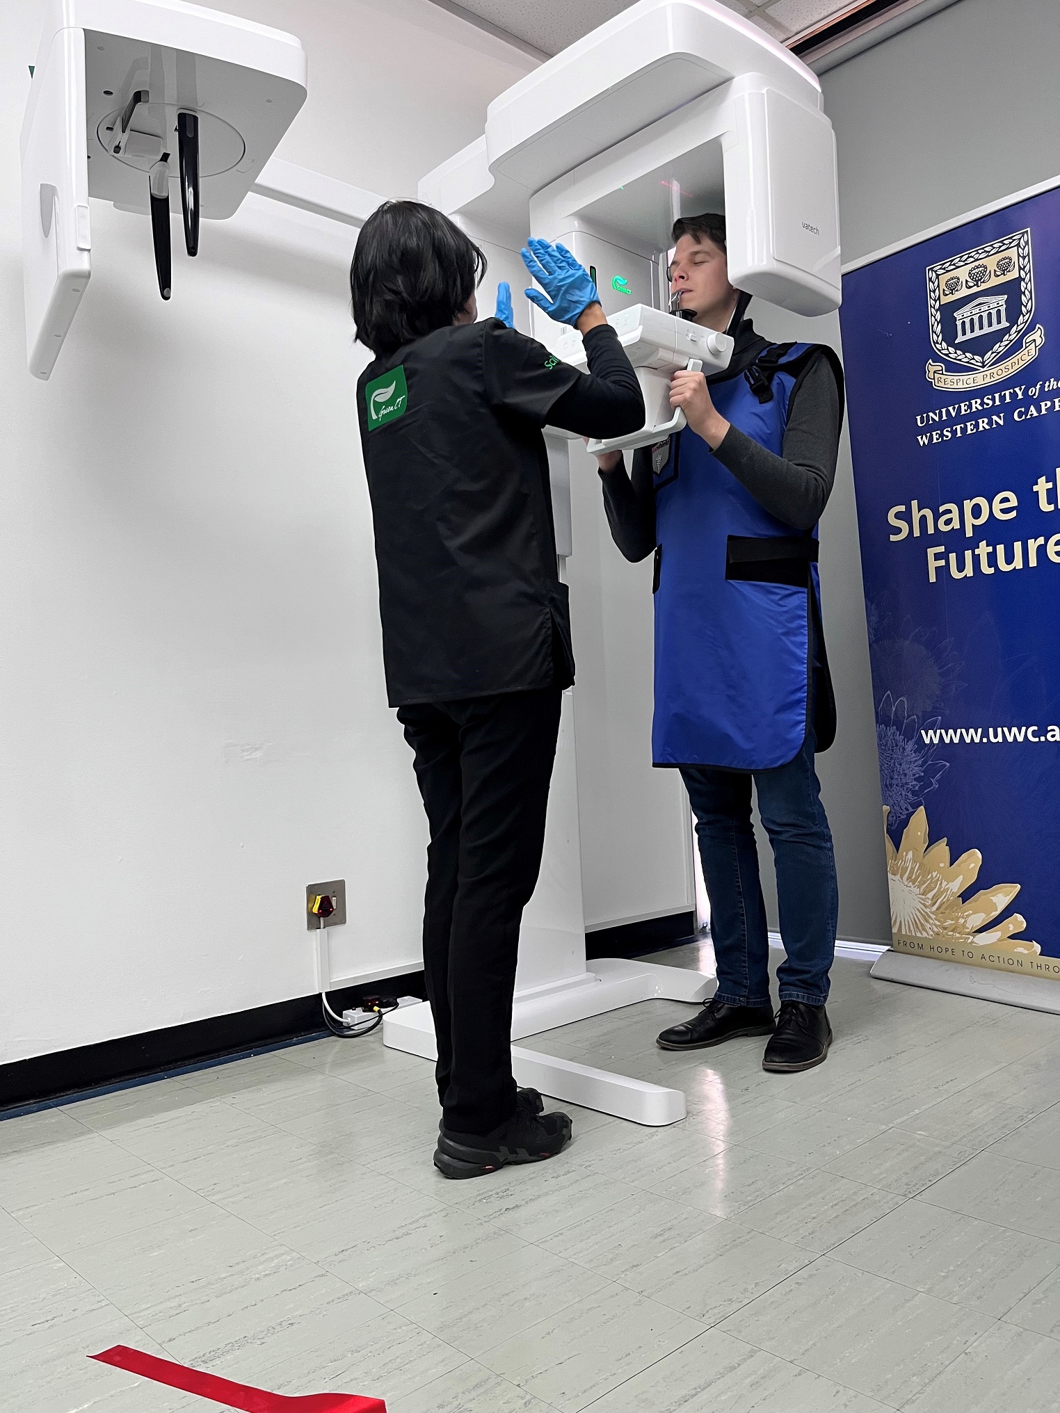
[[[893,950],[1060,1009],[1060,187],[848,270],[841,326]]]

